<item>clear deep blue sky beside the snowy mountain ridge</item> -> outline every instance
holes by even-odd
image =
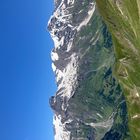
[[[0,140],[53,140],[53,0],[0,0]]]

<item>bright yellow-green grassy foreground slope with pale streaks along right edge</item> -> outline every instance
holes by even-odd
[[[125,91],[129,129],[140,140],[140,1],[96,0],[116,52],[114,74]]]

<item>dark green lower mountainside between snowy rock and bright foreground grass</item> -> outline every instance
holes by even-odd
[[[77,19],[83,19],[88,9],[86,4],[88,1],[85,0],[83,7],[81,1],[75,1],[75,7],[72,9],[73,23]],[[83,13],[77,16],[76,13],[81,10]],[[69,127],[71,136],[75,139],[81,137],[83,139],[95,137],[96,140],[123,139],[127,135],[126,103],[123,102],[124,96],[118,82],[112,76],[115,58],[111,35],[97,9],[90,22],[75,36],[74,46],[80,56],[78,86],[74,96],[69,100],[67,112],[73,116],[74,121],[80,122],[79,127],[76,122]],[[91,127],[86,124],[106,122],[110,116],[114,120],[113,126],[110,125],[112,127],[110,131],[109,127],[103,125]]]

